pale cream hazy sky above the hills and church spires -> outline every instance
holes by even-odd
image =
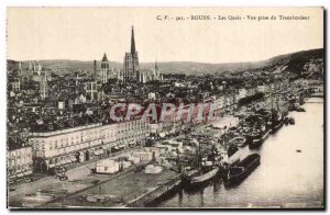
[[[174,18],[173,20],[157,20]],[[176,16],[211,15],[207,21]],[[227,20],[215,18],[226,16]],[[241,15],[241,20],[228,20]],[[275,15],[251,21],[248,15]],[[305,15],[284,21],[278,15]],[[123,61],[131,25],[140,61],[237,63],[323,47],[321,8],[8,8],[9,59]],[[245,19],[243,19],[245,18]]]

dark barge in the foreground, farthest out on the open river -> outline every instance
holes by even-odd
[[[227,176],[227,186],[234,185],[244,180],[260,165],[260,155],[252,154],[229,168]]]

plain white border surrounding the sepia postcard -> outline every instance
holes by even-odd
[[[0,78],[0,86],[2,88],[0,92],[0,143],[2,144],[2,150],[0,150],[0,157],[2,158],[2,161],[0,162],[0,172],[1,172],[1,186],[0,186],[0,202],[1,202],[1,214],[9,214],[10,211],[6,208],[7,205],[7,196],[6,196],[6,91],[7,91],[7,83],[6,83],[6,8],[7,7],[116,7],[116,5],[121,5],[121,7],[290,7],[290,5],[296,5],[296,7],[316,7],[316,5],[323,5],[326,9],[328,9],[328,16],[329,16],[329,9],[330,9],[330,1],[327,0],[299,0],[299,1],[292,1],[292,0],[270,0],[270,1],[262,1],[262,0],[227,0],[227,1],[217,1],[217,0],[191,0],[191,1],[182,1],[182,0],[140,0],[140,1],[134,1],[134,0],[112,0],[109,2],[109,0],[44,0],[44,1],[37,1],[37,0],[2,0],[0,1],[0,43],[1,43],[1,52],[0,52],[0,71],[2,73],[3,78]],[[328,22],[327,22],[327,29],[328,29]],[[327,37],[328,39],[328,37]],[[324,47],[327,48],[327,47]],[[329,63],[327,55],[327,63]],[[327,64],[328,65],[328,64]],[[326,70],[327,71],[327,70]],[[329,75],[327,76],[327,82],[329,87]],[[329,88],[328,88],[329,89]],[[329,101],[329,93],[327,92],[327,100]],[[329,106],[328,106],[328,116],[329,116]],[[327,118],[329,120],[329,118]],[[327,134],[329,134],[329,125],[327,127]],[[329,137],[328,137],[329,138]],[[329,148],[330,146],[327,147],[327,155],[329,154]],[[328,158],[329,160],[329,158]],[[327,165],[327,172],[329,173],[329,165]],[[308,171],[308,170],[307,170]],[[327,176],[327,174],[326,174]],[[328,174],[329,176],[329,174]],[[329,177],[328,177],[328,182],[329,182]],[[329,183],[327,183],[329,185]],[[326,197],[328,200],[328,197]],[[327,201],[327,206],[328,201]],[[207,211],[202,211],[200,213],[206,213]],[[244,211],[246,212],[246,211]],[[254,211],[253,211],[254,212]],[[253,213],[252,212],[252,213]],[[34,212],[32,212],[34,213]],[[40,214],[47,214],[47,213],[54,213],[54,212],[47,212],[43,211],[40,212]],[[80,213],[80,212],[55,212],[55,213],[61,213],[63,215],[65,214],[72,214],[72,213]],[[94,214],[96,212],[86,212],[84,214]],[[103,213],[120,213],[120,214],[128,214],[128,213],[133,213],[133,212],[103,212]],[[148,212],[138,212],[138,213],[148,213]],[[155,213],[155,212],[151,212]],[[160,212],[161,213],[161,212]],[[190,212],[162,212],[162,213],[170,213],[170,214],[179,214],[179,213],[190,213]],[[219,211],[217,213],[227,213],[223,211]],[[237,212],[231,212],[231,214],[238,214],[241,213],[239,211]],[[261,212],[262,214],[266,212]],[[284,214],[288,214],[290,212],[282,212]],[[318,212],[308,212],[308,213],[318,213]]]

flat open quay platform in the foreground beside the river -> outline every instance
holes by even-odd
[[[142,171],[136,172],[134,168],[131,168],[99,184],[54,199],[41,207],[140,207],[166,195],[179,184],[180,174],[175,171],[164,169],[160,173],[148,174]]]

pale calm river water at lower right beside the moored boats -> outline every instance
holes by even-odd
[[[322,100],[315,100],[322,102]],[[323,203],[323,103],[290,112],[295,125],[284,125],[256,150],[261,165],[238,186],[220,179],[194,191],[179,189],[151,205],[156,207],[320,207]],[[301,152],[296,150],[300,149]]]

